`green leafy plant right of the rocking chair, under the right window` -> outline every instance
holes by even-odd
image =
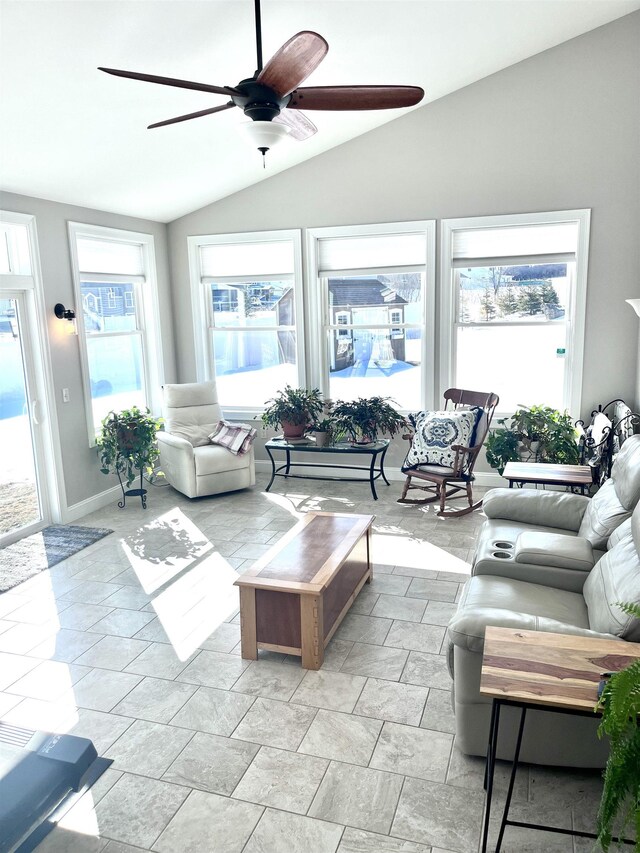
[[[498,429],[487,438],[487,461],[500,474],[507,462],[533,457],[536,462],[577,465],[580,448],[568,412],[551,406],[527,406],[511,418],[500,418]],[[538,442],[534,450],[532,444]]]

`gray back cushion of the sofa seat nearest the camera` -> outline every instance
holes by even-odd
[[[589,611],[589,624],[596,631],[606,631],[640,642],[640,620],[628,616],[617,605],[640,604],[640,504],[631,524],[617,537],[617,542],[594,566],[585,581],[584,599]]]

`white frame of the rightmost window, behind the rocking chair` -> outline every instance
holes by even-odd
[[[577,222],[578,242],[576,247],[575,285],[571,288],[571,303],[566,320],[567,354],[565,356],[563,408],[578,417],[582,411],[582,370],[584,355],[584,332],[587,307],[587,270],[589,262],[589,228],[591,210],[561,210],[546,213],[520,213],[497,216],[474,216],[459,219],[443,219],[440,238],[440,389],[455,382],[457,299],[453,277],[453,238],[456,231],[473,228],[504,228],[509,225],[544,225],[562,222]],[[495,259],[502,260],[502,259]],[[491,265],[491,258],[486,259]],[[534,263],[534,261],[532,261]],[[493,324],[487,324],[490,326]],[[515,325],[510,323],[509,325]],[[501,410],[500,415],[513,412]]]

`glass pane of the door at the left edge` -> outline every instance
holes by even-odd
[[[0,545],[48,521],[30,297],[28,292],[0,293]]]

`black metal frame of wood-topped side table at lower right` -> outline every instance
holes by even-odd
[[[504,811],[502,813],[502,820],[500,821],[500,832],[498,833],[498,841],[496,844],[495,853],[500,853],[500,848],[502,847],[502,840],[504,838],[504,831],[507,826],[520,826],[525,829],[536,829],[542,830],[544,832],[555,832],[560,835],[572,835],[578,836],[580,838],[597,838],[598,836],[593,832],[581,832],[577,829],[564,829],[558,826],[546,826],[540,823],[526,823],[525,821],[520,820],[509,820],[509,808],[511,806],[511,797],[513,795],[513,787],[516,780],[516,772],[518,769],[518,762],[520,759],[520,747],[522,745],[522,735],[524,732],[524,724],[526,720],[527,710],[535,710],[535,711],[547,711],[553,714],[574,714],[579,717],[591,717],[595,716],[593,711],[581,711],[574,708],[551,708],[546,705],[538,705],[533,702],[526,702],[523,700],[517,699],[499,699],[495,698],[493,700],[493,705],[491,707],[491,723],[489,726],[489,743],[487,746],[487,764],[485,768],[484,774],[484,787],[487,792],[486,796],[486,806],[484,813],[484,823],[482,828],[482,853],[487,853],[487,841],[489,838],[489,818],[491,816],[491,796],[493,794],[493,776],[495,771],[496,764],[496,750],[498,745],[498,730],[500,727],[500,708],[503,706],[509,706],[512,708],[520,708],[520,724],[518,726],[518,737],[516,738],[516,748],[513,755],[513,763],[511,765],[511,774],[509,776],[509,787],[507,788],[507,798],[504,804]],[[618,839],[614,839],[614,841],[620,843]],[[635,844],[635,841],[631,841],[627,838],[620,839],[623,844]]]

